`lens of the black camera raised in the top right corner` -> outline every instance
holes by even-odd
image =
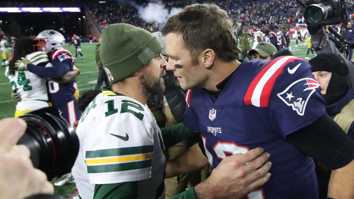
[[[332,13],[332,6],[326,3],[308,5],[305,9],[305,19],[308,25],[317,25]]]

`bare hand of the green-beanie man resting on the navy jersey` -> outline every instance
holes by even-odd
[[[243,198],[268,181],[271,162],[264,162],[269,156],[258,147],[225,157],[208,179],[194,187],[197,198]]]

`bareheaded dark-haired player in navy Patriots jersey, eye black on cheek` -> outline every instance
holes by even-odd
[[[294,56],[239,62],[230,24],[218,6],[193,4],[162,28],[166,68],[189,89],[184,125],[201,133],[209,163],[262,147],[272,176],[247,198],[318,198],[313,157],[332,169],[328,197],[353,198],[354,142],[325,113],[310,65]]]

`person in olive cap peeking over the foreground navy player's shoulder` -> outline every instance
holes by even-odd
[[[273,44],[262,41],[256,45],[256,48],[249,50],[248,55],[253,56],[254,59],[269,61],[277,52],[278,50]]]

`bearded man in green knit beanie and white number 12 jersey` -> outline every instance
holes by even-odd
[[[182,123],[160,129],[146,105],[149,95],[164,91],[162,49],[156,36],[129,24],[102,31],[100,58],[111,88],[91,101],[76,129],[80,148],[72,173],[81,198],[165,198],[171,171],[165,174],[164,152],[195,131]],[[174,198],[228,198],[235,191],[225,190],[235,185],[242,193],[255,189],[269,178],[262,153],[256,148],[225,158],[205,182]]]

